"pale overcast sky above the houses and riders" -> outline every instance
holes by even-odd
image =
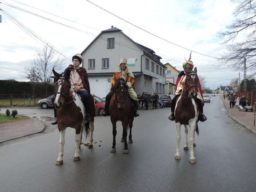
[[[113,25],[135,42],[153,49],[163,58],[163,64],[169,62],[178,70],[182,70],[184,57],[188,59],[192,50],[191,60],[210,89],[229,85],[232,78],[239,78],[239,72],[240,80],[243,79],[242,71],[220,68],[216,59],[225,52],[217,32],[234,20],[232,12],[236,5],[230,0],[0,2],[0,79],[27,81],[21,77],[24,66],[30,65],[36,50],[41,51],[44,46],[8,17],[62,52],[69,58],[66,66],[72,63],[75,53],[81,53],[101,31]]]

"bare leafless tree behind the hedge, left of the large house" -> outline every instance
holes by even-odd
[[[23,77],[30,79],[33,82],[42,83],[45,91],[45,96],[48,96],[48,88],[52,83],[52,69],[59,71],[63,68],[65,62],[63,58],[55,58],[56,52],[53,47],[48,45],[37,51],[35,59],[30,65],[25,66]]]

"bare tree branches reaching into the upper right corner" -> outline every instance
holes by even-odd
[[[246,68],[256,74],[256,0],[231,0],[238,3],[233,11],[236,19],[227,26],[227,31],[219,32],[221,38],[225,38],[228,52],[219,58],[227,67],[233,70],[244,68],[243,58],[246,58]],[[246,36],[246,37],[244,37]],[[240,42],[236,41],[239,37]],[[242,39],[242,40],[241,40]]]

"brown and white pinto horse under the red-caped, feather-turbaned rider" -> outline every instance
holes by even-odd
[[[190,71],[186,75],[186,80],[183,85],[181,96],[178,98],[175,106],[175,123],[177,129],[177,148],[175,159],[180,160],[180,140],[181,140],[181,125],[185,127],[185,145],[184,150],[188,150],[188,128],[190,127],[190,162],[195,163],[194,149],[195,146],[195,131],[199,135],[198,130],[198,108],[195,102],[197,97],[197,68],[193,71]]]

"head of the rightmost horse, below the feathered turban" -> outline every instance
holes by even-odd
[[[189,97],[195,98],[197,97],[197,85],[198,85],[198,76],[197,76],[197,68],[193,71],[190,71],[186,76],[186,86],[188,89]]]

